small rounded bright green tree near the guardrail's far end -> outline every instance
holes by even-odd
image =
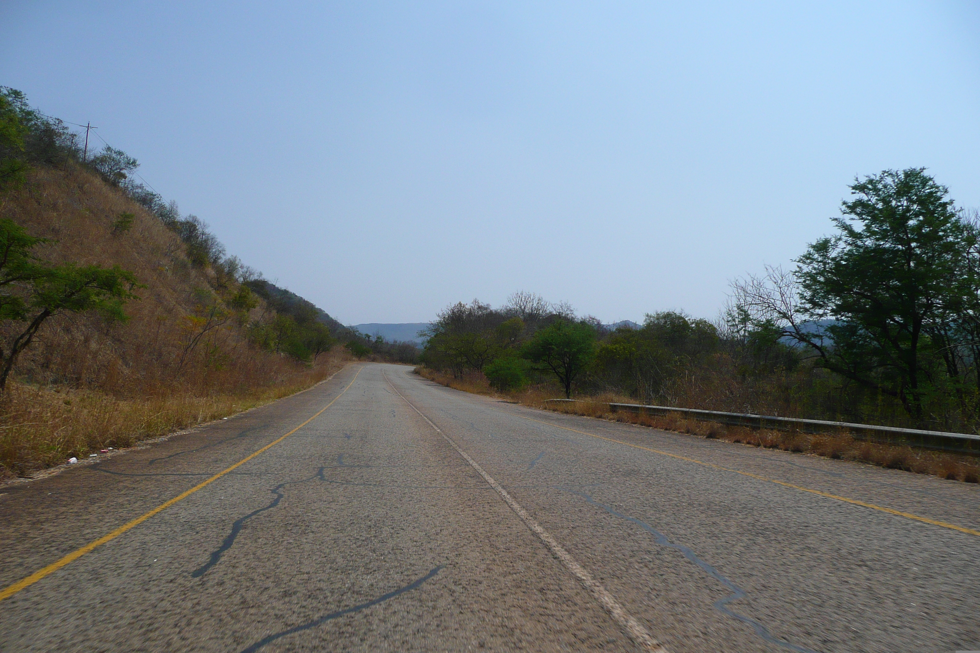
[[[571,398],[572,382],[595,357],[596,335],[589,324],[559,319],[535,333],[520,353],[555,374]]]

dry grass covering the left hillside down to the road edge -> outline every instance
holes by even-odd
[[[124,213],[134,217],[121,229]],[[159,218],[79,165],[36,168],[0,196],[0,217],[52,239],[36,252],[46,260],[118,264],[146,286],[125,323],[91,313],[45,323],[0,396],[0,479],[293,394],[352,358],[335,347],[311,366],[256,345],[250,328],[275,311],[225,310],[237,281],[191,261]]]

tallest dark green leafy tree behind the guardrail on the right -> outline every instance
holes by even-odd
[[[930,331],[976,297],[968,254],[977,234],[959,218],[949,190],[924,168],[856,180],[857,198],[834,218],[840,232],[797,259],[801,307],[832,346],[803,335],[823,365],[895,396],[918,421],[935,353]]]

